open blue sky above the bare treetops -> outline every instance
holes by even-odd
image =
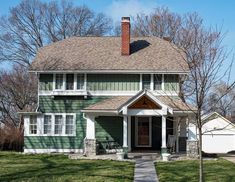
[[[1,0],[0,15],[7,14],[9,8],[19,2],[20,0]],[[118,21],[122,16],[134,16],[139,12],[149,13],[157,6],[169,7],[171,11],[180,14],[197,12],[207,26],[222,26],[226,33],[224,46],[235,53],[234,0],[74,0],[73,2],[76,5],[86,5],[96,12],[103,12],[114,21]],[[235,65],[232,72],[232,79],[235,80]]]

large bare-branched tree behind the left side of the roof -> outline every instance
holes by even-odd
[[[38,48],[71,36],[102,36],[111,20],[71,1],[22,0],[0,19],[0,61],[30,65]]]

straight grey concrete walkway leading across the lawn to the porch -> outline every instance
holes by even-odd
[[[159,182],[153,160],[136,159],[134,182]]]

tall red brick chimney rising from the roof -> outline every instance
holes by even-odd
[[[122,55],[130,55],[130,17],[122,17]]]

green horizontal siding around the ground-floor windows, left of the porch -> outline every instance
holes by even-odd
[[[86,121],[81,109],[107,97],[39,97],[39,110],[42,113],[76,113],[76,136],[25,136],[25,149],[83,149],[86,136]]]

